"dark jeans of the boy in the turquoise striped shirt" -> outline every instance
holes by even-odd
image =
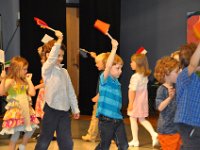
[[[99,134],[100,143],[95,148],[96,150],[109,150],[112,139],[115,140],[119,150],[128,149],[128,141],[122,119],[112,119],[100,115]]]

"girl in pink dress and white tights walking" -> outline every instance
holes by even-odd
[[[145,117],[148,117],[149,115],[147,77],[151,73],[146,55],[133,54],[131,56],[131,68],[136,72],[131,77],[128,92],[128,115],[130,116],[131,131],[133,136],[133,140],[129,142],[129,146],[139,146],[137,120],[151,134],[152,146],[155,146],[158,143],[158,134],[154,131],[150,122],[145,119]]]

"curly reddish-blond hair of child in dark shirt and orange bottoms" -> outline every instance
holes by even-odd
[[[169,75],[174,69],[178,69],[179,66],[179,62],[176,59],[170,56],[165,56],[156,62],[154,77],[158,80],[158,82],[164,83],[165,76]]]

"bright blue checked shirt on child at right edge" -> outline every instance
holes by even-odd
[[[200,127],[200,77],[196,73],[188,76],[185,68],[177,78],[176,123]]]

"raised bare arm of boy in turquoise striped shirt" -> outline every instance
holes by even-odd
[[[112,50],[111,50],[108,60],[106,62],[106,68],[104,71],[104,79],[107,79],[108,75],[110,74],[110,69],[113,65],[113,61],[114,61],[115,54],[117,51],[117,46],[118,46],[118,42],[115,39],[112,39],[111,43],[112,43]]]

